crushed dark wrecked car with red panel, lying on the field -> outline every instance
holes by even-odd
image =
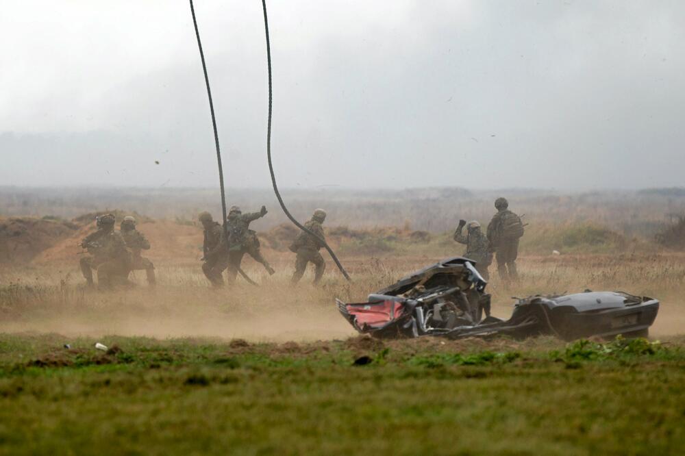
[[[427,266],[369,295],[366,303],[343,303],[338,310],[360,333],[376,338],[446,338],[556,335],[564,340],[590,336],[645,337],[659,301],[625,292],[536,295],[517,299],[508,320],[490,315],[486,281],[464,257]]]

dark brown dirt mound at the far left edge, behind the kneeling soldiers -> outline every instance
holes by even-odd
[[[0,263],[27,264],[77,229],[73,223],[53,218],[0,219]]]

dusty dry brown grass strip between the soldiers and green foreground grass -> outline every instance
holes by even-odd
[[[276,254],[278,272],[266,275],[245,260],[245,270],[261,283],[239,279],[233,288],[212,290],[199,262],[158,264],[159,284],[149,290],[145,275],[135,273],[130,290],[94,292],[82,286],[76,264],[0,270],[0,331],[55,332],[64,335],[216,336],[247,340],[329,340],[354,332],[338,315],[334,299],[364,301],[366,295],[440,257],[343,257],[353,282],[328,270],[320,288],[310,275],[290,286],[292,255]],[[447,255],[442,255],[447,256]],[[682,333],[685,325],[685,255],[527,256],[519,260],[521,280],[506,284],[493,279],[493,312],[508,317],[511,296],[537,293],[625,290],[660,299],[662,307],[653,335]]]

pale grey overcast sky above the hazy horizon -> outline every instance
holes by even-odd
[[[187,1],[0,6],[0,185],[217,185]],[[227,186],[267,187],[261,2],[195,9]],[[684,1],[269,14],[282,187],[685,185]]]

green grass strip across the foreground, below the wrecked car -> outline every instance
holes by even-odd
[[[0,336],[0,453],[667,454],[682,341]],[[444,342],[444,343],[443,343]],[[371,358],[355,366],[360,356]]]

